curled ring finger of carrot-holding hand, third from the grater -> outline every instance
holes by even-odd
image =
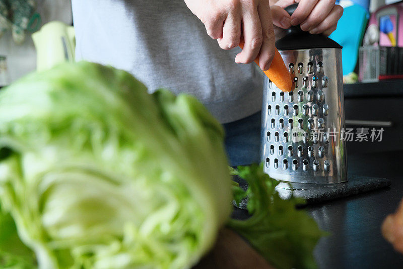
[[[223,37],[217,39],[223,49],[231,49],[239,45],[241,37],[241,19],[235,15],[229,15],[224,22]]]

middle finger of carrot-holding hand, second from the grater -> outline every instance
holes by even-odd
[[[263,41],[261,24],[256,9],[252,9],[252,11],[244,14],[242,30],[245,45],[242,51],[235,57],[235,62],[249,64],[256,59]]]

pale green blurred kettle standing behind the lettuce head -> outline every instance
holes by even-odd
[[[32,34],[37,51],[37,71],[49,69],[58,63],[75,61],[74,27],[63,22],[45,24]]]

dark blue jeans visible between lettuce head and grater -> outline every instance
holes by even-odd
[[[223,126],[230,165],[260,163],[261,112]]]

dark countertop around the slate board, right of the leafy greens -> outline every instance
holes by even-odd
[[[396,253],[380,232],[403,198],[403,151],[348,155],[349,173],[392,180],[389,188],[311,205],[306,210],[330,236],[315,248],[320,268],[398,268]]]

